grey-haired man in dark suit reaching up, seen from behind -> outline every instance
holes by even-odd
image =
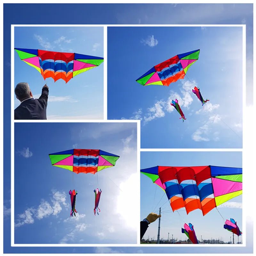
[[[20,106],[14,109],[14,119],[47,119],[46,107],[49,88],[45,84],[39,99],[34,99],[28,83],[19,83],[15,87],[15,95]]]

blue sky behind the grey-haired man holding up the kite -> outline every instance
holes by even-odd
[[[16,27],[16,48],[55,52],[76,52],[103,57],[102,27]],[[35,98],[41,95],[45,82],[49,87],[47,119],[103,118],[103,63],[81,73],[66,84],[62,79],[44,81],[35,68],[20,60],[14,52],[14,84],[28,82]],[[14,108],[20,101],[15,97]]]

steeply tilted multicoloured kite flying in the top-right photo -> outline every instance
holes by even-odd
[[[169,86],[178,79],[184,79],[188,68],[198,60],[200,50],[178,54],[149,69],[136,81],[142,85]]]

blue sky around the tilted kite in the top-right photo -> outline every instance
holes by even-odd
[[[135,81],[154,65],[197,49],[199,60],[185,79],[169,87]],[[204,107],[195,86],[210,100]],[[175,99],[184,123],[170,105]],[[140,119],[142,148],[242,147],[242,28],[108,28],[108,118]]]

